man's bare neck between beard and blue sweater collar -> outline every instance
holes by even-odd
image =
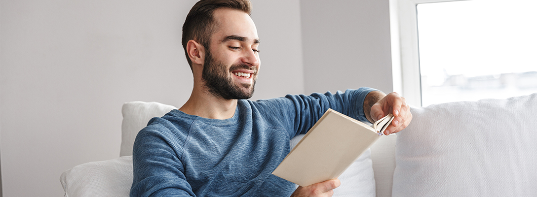
[[[186,101],[180,111],[189,115],[211,119],[228,119],[235,115],[237,100],[226,100],[216,97],[206,90],[192,90],[190,99]]]

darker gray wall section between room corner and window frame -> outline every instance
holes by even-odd
[[[300,9],[306,92],[393,90],[388,0],[308,0]]]

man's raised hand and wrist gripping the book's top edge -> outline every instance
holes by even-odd
[[[406,100],[397,93],[384,95],[379,91],[373,91],[367,94],[364,101],[364,112],[371,123],[391,113],[395,116],[394,120],[384,131],[384,135],[397,133],[406,128],[412,120],[412,113]]]

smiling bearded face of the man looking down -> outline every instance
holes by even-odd
[[[248,14],[231,9],[214,11],[217,24],[206,50],[202,80],[223,99],[249,99],[259,71],[259,38]]]

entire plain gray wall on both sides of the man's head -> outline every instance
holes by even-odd
[[[118,157],[122,103],[188,99],[180,32],[195,2],[0,1],[4,196],[62,196],[64,170]],[[391,90],[387,0],[252,2],[262,40],[253,100]]]

